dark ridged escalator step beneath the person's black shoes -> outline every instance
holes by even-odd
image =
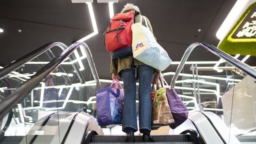
[[[156,142],[188,142],[188,135],[151,135]],[[125,142],[125,135],[94,135],[92,142]],[[135,135],[136,142],[142,142],[142,136]]]

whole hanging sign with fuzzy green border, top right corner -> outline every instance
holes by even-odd
[[[218,48],[231,55],[256,56],[256,2],[248,6]]]

